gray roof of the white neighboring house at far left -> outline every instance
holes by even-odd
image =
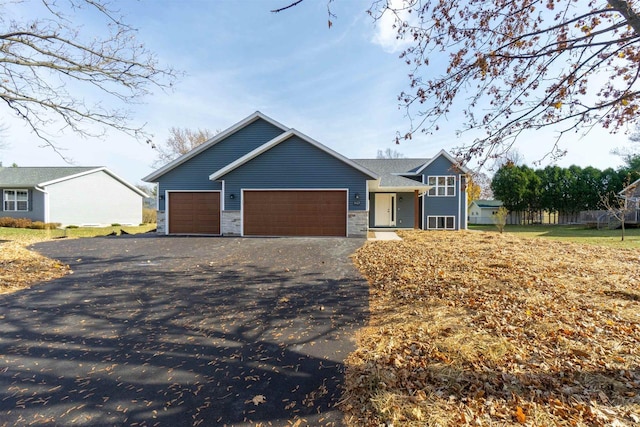
[[[103,171],[142,197],[148,195],[104,166],[0,167],[0,187],[46,187],[82,175]]]

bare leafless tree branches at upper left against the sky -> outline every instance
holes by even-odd
[[[170,88],[178,73],[161,67],[106,1],[69,0],[64,9],[55,0],[28,3],[42,5],[41,16],[16,21],[2,13],[12,2],[0,0],[2,104],[56,151],[52,134],[62,129],[94,137],[112,128],[147,138],[128,106]],[[100,20],[101,35],[78,27],[79,14]]]

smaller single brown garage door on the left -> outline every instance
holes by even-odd
[[[169,193],[169,233],[220,234],[220,193]]]

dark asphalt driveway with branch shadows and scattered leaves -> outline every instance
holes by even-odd
[[[35,249],[0,295],[0,426],[341,425],[361,239],[121,236]]]

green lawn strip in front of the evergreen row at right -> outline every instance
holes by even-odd
[[[498,232],[494,225],[469,225],[469,230]],[[626,229],[624,241],[621,241],[621,230],[597,230],[580,225],[507,225],[504,232],[615,248],[640,248],[640,228]]]

